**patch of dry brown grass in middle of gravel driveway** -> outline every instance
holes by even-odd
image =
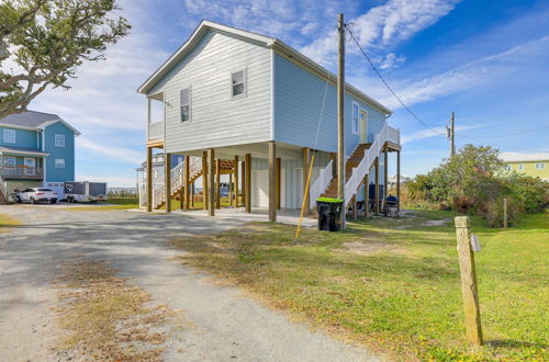
[[[105,261],[79,258],[64,264],[56,282],[56,313],[64,329],[57,354],[109,361],[160,361],[168,336],[158,327],[175,312],[152,305],[150,295],[115,276]]]

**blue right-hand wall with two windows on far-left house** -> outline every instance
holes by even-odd
[[[55,146],[55,135],[65,135],[65,147]],[[75,180],[75,133],[61,122],[54,123],[45,129],[46,182],[65,182]],[[65,168],[56,168],[55,159],[65,159]]]

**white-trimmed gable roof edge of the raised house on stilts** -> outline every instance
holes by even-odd
[[[276,37],[269,37],[247,31],[243,31],[239,29],[235,29],[232,26],[223,25],[220,23],[215,23],[212,21],[203,20],[200,25],[194,30],[192,35],[184,42],[183,45],[177,49],[176,53],[173,53],[168,60],[166,60],[160,68],[158,68],[138,89],[137,92],[142,94],[147,94],[155,84],[160,81],[179,61],[181,61],[193,48],[194,46],[201,41],[202,36],[210,30],[214,30],[217,32],[231,34],[236,37],[240,37],[245,41],[248,42],[254,42],[259,45],[266,46],[273,48],[279,52],[283,52],[284,54],[292,55],[294,59],[296,59],[300,64],[302,64],[305,68],[309,68],[310,70],[314,70],[316,72],[320,72],[323,77],[326,77],[329,79],[333,79],[334,81],[337,79],[337,76],[327,70],[326,68],[322,67],[321,65],[316,64],[312,59],[307,58],[300,52],[295,50],[288,44],[283,43],[282,41],[276,38]],[[383,104],[379,103],[371,97],[366,95],[363,92],[358,90],[357,88],[350,86],[349,83],[346,83],[345,86],[346,90],[349,91],[350,93],[354,93],[357,98],[361,98],[363,101],[367,103],[370,103],[374,108],[379,109],[382,113],[385,114],[391,114],[392,111],[384,106]]]

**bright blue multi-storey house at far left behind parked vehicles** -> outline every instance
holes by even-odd
[[[0,182],[14,190],[46,186],[63,197],[75,180],[75,137],[80,133],[58,115],[26,111],[0,120]]]

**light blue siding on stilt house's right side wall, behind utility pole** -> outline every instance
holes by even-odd
[[[315,147],[316,129],[326,91],[326,79],[321,79],[283,56],[274,55],[274,140],[301,147]],[[366,102],[345,94],[346,154],[350,155],[360,142],[351,133],[352,101],[368,112],[368,133],[378,133],[385,122],[380,111]],[[328,84],[321,131],[316,149],[328,152],[337,150],[337,101],[336,87]],[[371,138],[370,138],[371,137]],[[368,142],[373,139],[370,136]]]

